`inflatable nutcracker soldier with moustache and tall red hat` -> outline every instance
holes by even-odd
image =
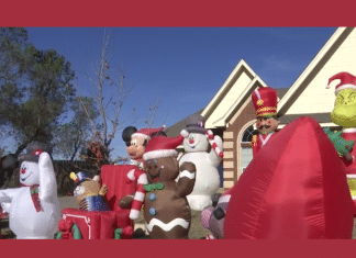
[[[257,135],[252,139],[254,157],[267,142],[275,136],[279,121],[277,120],[277,91],[270,87],[257,88],[252,93],[256,111]]]

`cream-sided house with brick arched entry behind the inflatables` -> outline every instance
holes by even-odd
[[[322,127],[337,127],[330,117],[337,81],[331,89],[325,87],[329,78],[340,71],[356,75],[355,27],[338,27],[291,87],[276,89],[279,128],[300,116],[312,116]],[[251,94],[257,87],[267,85],[241,60],[209,104],[198,111],[205,119],[205,127],[223,138],[222,190],[231,188],[252,160],[256,120]],[[177,136],[183,127],[180,121],[167,128],[167,135]]]

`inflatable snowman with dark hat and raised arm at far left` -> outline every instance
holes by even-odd
[[[60,206],[51,148],[29,144],[19,157],[21,188],[0,190],[0,202],[9,207],[10,229],[18,239],[51,239],[57,232]]]

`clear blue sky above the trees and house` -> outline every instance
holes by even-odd
[[[71,63],[78,89],[90,96],[91,65],[100,59],[104,31],[112,33],[110,67],[124,67],[129,87],[122,119],[136,106],[144,127],[148,105],[160,99],[154,127],[170,126],[208,105],[244,59],[272,88],[288,88],[336,27],[25,27],[40,49],[54,48]],[[107,92],[110,94],[110,92]],[[118,132],[112,156],[126,156]]]

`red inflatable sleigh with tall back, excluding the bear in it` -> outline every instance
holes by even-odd
[[[101,182],[108,186],[109,212],[88,212],[67,207],[62,211],[57,239],[130,239],[133,221],[130,210],[121,209],[119,201],[134,194],[136,182],[127,180],[127,172],[140,170],[134,165],[104,165],[101,167]]]

